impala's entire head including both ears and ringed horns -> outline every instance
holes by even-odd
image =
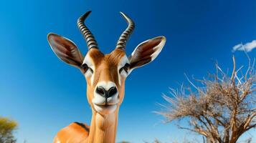
[[[47,39],[54,53],[67,64],[77,67],[84,74],[87,82],[87,100],[93,111],[100,114],[115,112],[123,102],[125,79],[133,69],[148,64],[158,56],[166,39],[158,36],[143,41],[134,49],[131,56],[125,54],[125,45],[134,29],[133,21],[121,13],[128,22],[128,27],[120,35],[118,43],[109,54],[103,54],[93,34],[85,26],[85,19],[90,11],[77,20],[87,43],[87,54],[83,56],[77,46],[63,36],[48,34]]]

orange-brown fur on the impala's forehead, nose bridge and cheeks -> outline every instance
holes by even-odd
[[[125,51],[115,49],[110,54],[104,55],[98,49],[91,49],[87,54],[90,56],[95,66],[93,81],[90,80],[92,77],[85,77],[87,81],[87,100],[89,104],[92,106],[96,84],[98,84],[98,82],[110,81],[114,82],[118,88],[120,99],[118,105],[120,105],[123,102],[125,77],[120,77],[119,84],[118,65],[120,64],[120,59],[125,56]]]

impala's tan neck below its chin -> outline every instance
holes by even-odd
[[[102,115],[93,110],[90,133],[87,142],[115,143],[118,125],[118,109],[112,114]]]

